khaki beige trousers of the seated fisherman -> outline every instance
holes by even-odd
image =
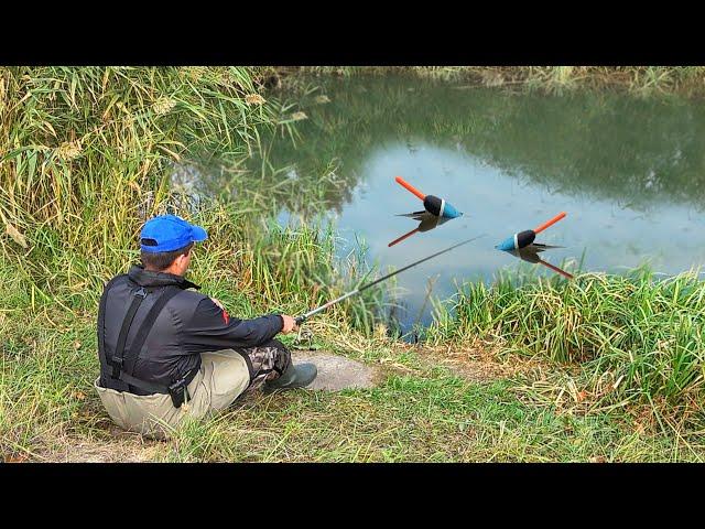
[[[94,387],[110,418],[120,428],[163,439],[184,418],[199,419],[230,406],[250,385],[250,373],[242,355],[232,349],[202,353],[200,369],[188,385],[191,400],[174,408],[169,395],[133,395]]]

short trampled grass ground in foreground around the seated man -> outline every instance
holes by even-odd
[[[13,304],[22,306],[14,295]],[[379,387],[252,396],[227,413],[184,424],[166,442],[150,442],[112,427],[93,391],[94,314],[46,307],[10,316],[0,332],[6,344],[0,451],[14,461],[705,458],[702,435],[688,435],[686,429],[676,433],[668,424],[662,429],[648,406],[586,407],[592,399],[581,400],[579,373],[536,364],[509,377],[466,378],[438,360],[447,356],[447,346],[435,352],[400,346],[383,337],[355,337],[349,330],[334,339],[324,321],[312,327],[314,344],[386,366]],[[453,352],[468,358],[477,354],[473,348]]]

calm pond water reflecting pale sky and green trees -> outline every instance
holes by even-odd
[[[495,249],[560,212],[536,237],[540,257],[568,272],[621,272],[649,263],[679,273],[705,263],[705,106],[614,93],[511,94],[414,77],[312,78],[290,110],[299,137],[268,140],[268,166],[297,190],[276,204],[282,224],[325,212],[341,238],[362,244],[381,271],[463,239],[476,241],[399,274],[402,328],[419,316],[426,284],[448,298],[455,281],[491,281],[530,264]],[[290,95],[291,97],[291,95]],[[252,160],[254,170],[263,166]],[[459,218],[413,230],[398,216],[423,209],[402,176],[445,198]],[[262,177],[264,177],[262,175]],[[426,228],[426,229],[424,229]],[[431,228],[431,229],[429,229]],[[431,306],[421,323],[431,320]]]

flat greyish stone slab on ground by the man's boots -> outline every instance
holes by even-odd
[[[310,363],[318,368],[318,376],[306,389],[339,391],[346,388],[373,388],[382,377],[378,368],[330,353],[293,350],[292,360],[294,365]]]

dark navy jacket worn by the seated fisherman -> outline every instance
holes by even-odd
[[[154,322],[139,354],[130,354],[131,343],[150,307],[167,285],[181,289]],[[278,314],[268,314],[253,320],[238,320],[216,305],[207,295],[186,289],[198,289],[191,281],[172,273],[152,272],[133,266],[127,274],[117,276],[105,288],[98,311],[98,339],[104,331],[104,348],[112,358],[122,322],[134,292],[144,287],[148,295],[134,314],[127,335],[123,369],[133,377],[169,386],[200,367],[200,353],[224,348],[243,348],[264,344],[272,339],[284,325]],[[111,378],[111,366],[100,357],[100,386],[135,395],[149,395],[121,380]],[[248,364],[249,365],[249,364]]]

